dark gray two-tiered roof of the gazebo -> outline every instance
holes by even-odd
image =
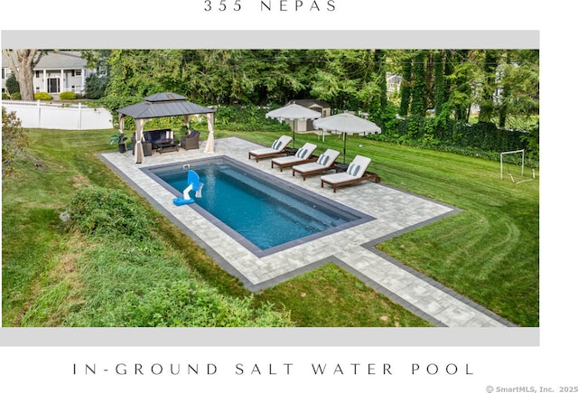
[[[117,112],[133,118],[154,118],[212,113],[215,109],[187,101],[179,94],[157,93],[145,97],[143,102],[117,109]]]

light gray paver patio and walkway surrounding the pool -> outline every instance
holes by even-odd
[[[384,183],[387,179],[382,183],[360,182],[334,193],[331,187],[321,187],[319,176],[303,181],[300,176],[294,177],[292,171],[272,169],[268,159],[258,163],[247,160],[247,152],[256,147],[261,146],[238,137],[228,137],[215,141],[214,154],[203,153],[201,142],[198,150],[154,154],[146,157],[143,164],[134,164],[134,156],[130,153],[101,154],[101,158],[249,290],[264,289],[332,262],[437,326],[514,326],[374,247],[384,239],[457,213],[458,209],[389,187]],[[147,166],[191,162],[219,154],[338,201],[376,220],[258,257],[198,212],[175,206],[172,203],[174,195],[141,170]]]

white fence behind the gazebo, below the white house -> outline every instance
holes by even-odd
[[[82,104],[56,104],[45,101],[8,101],[2,106],[16,112],[24,128],[67,130],[113,128],[112,115],[105,108],[89,108]]]

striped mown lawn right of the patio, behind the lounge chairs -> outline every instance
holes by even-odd
[[[266,145],[274,138],[243,136]],[[336,136],[325,144],[296,136],[296,146],[305,142],[343,148]],[[346,161],[356,154],[372,158],[370,170],[383,182],[462,210],[379,249],[513,323],[539,325],[539,172],[515,184],[499,179],[497,162],[348,136]]]

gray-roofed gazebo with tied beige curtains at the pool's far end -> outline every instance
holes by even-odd
[[[133,117],[135,119],[136,133],[135,133],[135,164],[140,164],[144,161],[143,151],[143,128],[144,123],[152,120],[155,117],[184,117],[187,125],[187,132],[189,129],[189,117],[191,115],[205,115],[209,123],[209,137],[207,145],[205,146],[205,153],[213,153],[214,136],[213,125],[215,122],[215,109],[201,107],[191,101],[187,101],[186,97],[182,97],[175,93],[157,93],[152,96],[144,98],[143,102],[130,105],[125,108],[117,109],[120,114],[118,117],[119,131],[124,133],[125,117]]]

